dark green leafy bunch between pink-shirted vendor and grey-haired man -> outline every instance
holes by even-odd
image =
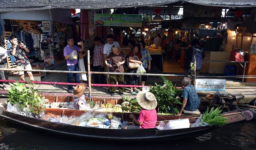
[[[149,92],[153,93],[157,99],[158,113],[170,113],[172,110],[178,113],[177,104],[181,105],[182,103],[177,100],[176,96],[181,93],[181,90],[176,88],[176,84],[173,85],[167,78],[163,76],[161,78],[164,80],[164,85],[157,83],[155,86],[149,85]]]

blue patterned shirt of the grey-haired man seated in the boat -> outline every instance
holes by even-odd
[[[185,86],[182,90],[181,97],[187,99],[185,110],[195,111],[200,106],[200,101],[193,85]]]

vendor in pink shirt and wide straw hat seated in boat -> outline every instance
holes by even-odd
[[[136,99],[142,107],[138,119],[133,114],[130,118],[133,119],[133,125],[126,126],[125,129],[149,129],[155,128],[157,123],[157,100],[153,93],[141,91],[137,94]],[[137,124],[137,125],[135,125]]]

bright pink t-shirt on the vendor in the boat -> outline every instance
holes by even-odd
[[[143,122],[141,129],[155,128],[157,123],[157,111],[141,109],[138,117],[138,122]]]

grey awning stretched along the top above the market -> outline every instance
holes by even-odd
[[[1,0],[0,12],[51,8],[104,9],[133,8],[187,2],[220,7],[256,7],[255,0]]]

